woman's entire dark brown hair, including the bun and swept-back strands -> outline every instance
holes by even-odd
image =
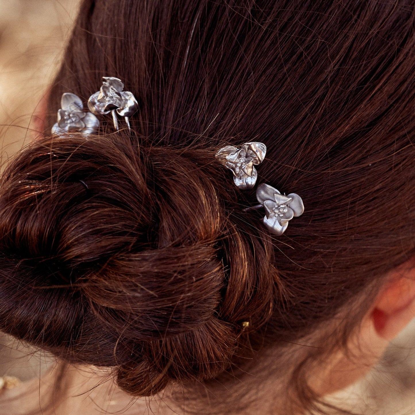
[[[131,134],[101,117],[97,136],[46,135],[7,167],[0,329],[114,367],[134,395],[243,368],[248,345],[283,347],[350,305],[327,347],[344,343],[370,306],[357,299],[415,248],[414,11],[85,0],[48,130],[61,94],[86,101],[102,76],[139,111]],[[215,160],[247,141],[267,146],[258,183],[303,198],[282,237]]]

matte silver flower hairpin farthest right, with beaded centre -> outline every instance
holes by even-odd
[[[265,183],[256,189],[258,202],[265,207],[264,225],[276,235],[281,235],[288,227],[288,222],[304,212],[303,200],[296,193],[281,193]]]

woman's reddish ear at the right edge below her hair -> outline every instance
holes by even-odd
[[[415,259],[391,274],[376,298],[371,315],[379,337],[394,339],[415,317]]]

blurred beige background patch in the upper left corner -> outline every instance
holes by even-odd
[[[0,0],[2,161],[31,139],[33,114],[59,67],[78,0]]]

